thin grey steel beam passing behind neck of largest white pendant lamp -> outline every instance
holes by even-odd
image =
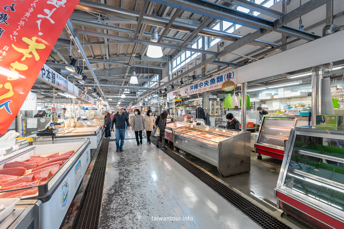
[[[109,38],[109,39],[114,39],[114,40],[128,41],[128,42],[132,42],[132,43],[136,43],[136,44],[155,45],[155,46],[164,47],[164,48],[193,51],[196,53],[205,53],[205,54],[209,54],[209,55],[215,55],[216,54],[216,52],[214,52],[214,51],[208,51],[208,50],[197,49],[197,48],[189,48],[189,47],[181,48],[180,46],[174,45],[174,44],[165,44],[165,43],[157,43],[157,42],[151,42],[151,41],[143,41],[140,39],[132,39],[132,38],[128,38],[128,37],[122,37],[122,36],[117,36],[117,35],[113,35],[113,34],[104,34],[101,32],[94,32],[94,31],[89,31],[89,30],[75,29],[74,32],[76,34],[84,34],[84,35],[90,35],[90,36],[96,36],[96,37],[104,37],[104,38]]]

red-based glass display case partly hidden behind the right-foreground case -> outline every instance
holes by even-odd
[[[255,144],[258,159],[264,154],[282,160],[291,127],[307,125],[308,117],[304,116],[264,115]]]

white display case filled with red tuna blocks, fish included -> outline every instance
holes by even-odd
[[[0,159],[0,198],[42,201],[40,228],[58,229],[90,160],[89,139],[33,142]]]

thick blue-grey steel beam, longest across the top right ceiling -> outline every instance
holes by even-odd
[[[320,38],[320,36],[308,33],[290,26],[281,25],[276,27],[273,21],[260,18],[251,14],[247,14],[238,10],[234,10],[223,5],[215,4],[206,0],[152,0],[164,5],[182,9],[185,11],[198,13],[201,15],[209,16],[211,18],[229,21],[235,24],[244,25],[250,28],[265,28],[279,33],[284,33],[290,36],[298,37],[306,41],[313,41],[314,39]],[[319,0],[315,0],[319,1]]]

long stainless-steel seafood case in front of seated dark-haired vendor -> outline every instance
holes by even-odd
[[[173,144],[215,165],[222,176],[250,171],[250,132],[189,124],[173,130]]]

